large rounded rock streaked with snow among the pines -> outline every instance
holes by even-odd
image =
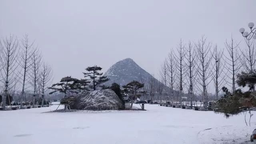
[[[84,91],[70,102],[71,109],[77,110],[118,110],[123,107],[122,101],[113,90]]]

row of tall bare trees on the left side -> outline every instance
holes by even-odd
[[[42,60],[42,54],[28,35],[21,40],[14,36],[0,39],[0,94],[2,106],[6,107],[6,97],[14,96],[18,90],[20,106],[28,102],[26,90],[32,90],[33,105],[37,104],[36,96],[42,94],[52,81],[52,68]]]

